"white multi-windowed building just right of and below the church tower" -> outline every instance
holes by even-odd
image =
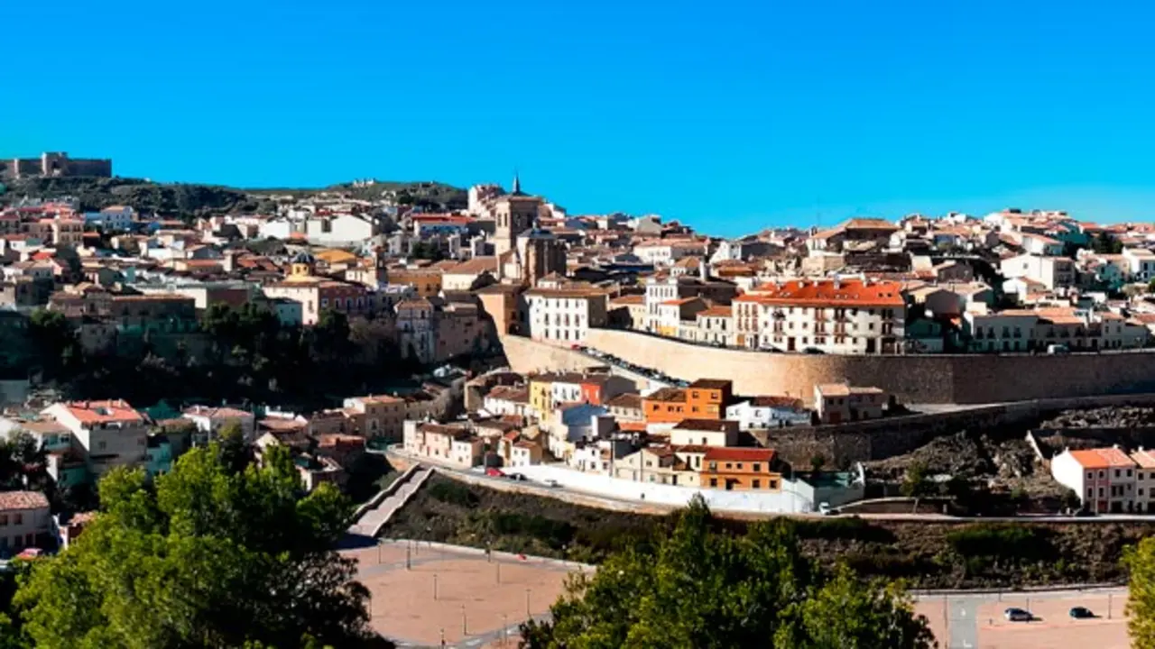
[[[526,304],[529,337],[535,341],[580,344],[590,328],[608,321],[609,297],[598,289],[530,289]]]

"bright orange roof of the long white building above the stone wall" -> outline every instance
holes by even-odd
[[[820,307],[901,307],[906,304],[902,299],[902,286],[897,282],[860,279],[841,282],[796,279],[783,284],[763,284],[754,292],[738,296],[735,301]]]

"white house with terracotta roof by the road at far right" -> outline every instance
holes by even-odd
[[[1137,510],[1137,471],[1139,464],[1118,447],[1065,449],[1051,458],[1051,476],[1079,494],[1083,509],[1095,514]],[[1149,472],[1145,473],[1149,478]]]

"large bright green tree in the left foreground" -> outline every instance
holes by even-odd
[[[284,448],[231,473],[218,445],[169,475],[117,469],[75,545],[38,560],[14,604],[36,647],[363,646],[367,591],[331,550],[349,506],[304,494]]]

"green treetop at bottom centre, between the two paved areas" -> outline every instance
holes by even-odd
[[[933,646],[925,618],[899,587],[862,582],[845,568],[822,572],[798,550],[792,523],[757,523],[744,537],[711,524],[698,499],[668,535],[610,557],[594,576],[574,577],[550,609],[552,621],[522,626],[522,646]]]

